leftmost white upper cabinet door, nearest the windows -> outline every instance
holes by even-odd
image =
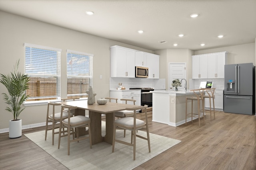
[[[116,49],[116,76],[126,77],[126,49]]]

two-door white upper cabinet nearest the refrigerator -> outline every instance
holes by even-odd
[[[224,78],[226,62],[226,52],[208,54],[208,78]]]

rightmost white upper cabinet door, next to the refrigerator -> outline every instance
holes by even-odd
[[[226,60],[226,53],[216,54],[216,78],[224,78],[224,66]]]

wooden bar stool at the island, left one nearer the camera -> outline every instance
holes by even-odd
[[[193,117],[198,117],[198,122],[199,122],[199,127],[200,125],[200,111],[203,112],[203,119],[204,119],[204,90],[205,89],[196,89],[196,90],[191,90],[194,92],[195,96],[193,97],[186,97],[186,124],[187,124],[187,117],[191,117],[191,121],[193,122]],[[188,111],[188,100],[191,100],[191,113],[187,113]],[[198,106],[198,113],[193,113],[193,101],[197,101],[197,106]],[[202,101],[202,109],[200,109],[200,101]],[[205,122],[204,122],[205,124]]]

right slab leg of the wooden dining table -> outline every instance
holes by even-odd
[[[106,135],[104,137],[104,142],[112,145],[113,141],[113,125],[114,125],[115,116],[114,113],[106,114]]]

